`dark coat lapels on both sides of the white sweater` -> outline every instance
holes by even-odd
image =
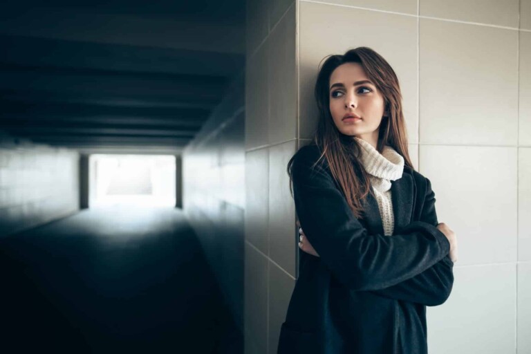
[[[372,187],[371,187],[372,189]],[[400,232],[403,227],[411,223],[411,213],[413,212],[413,201],[416,198],[415,184],[409,168],[404,167],[402,178],[391,181],[391,198],[393,198],[393,214],[395,218],[394,232]],[[364,221],[373,234],[384,234],[382,216],[378,209],[378,202],[372,194],[367,195],[365,205]]]

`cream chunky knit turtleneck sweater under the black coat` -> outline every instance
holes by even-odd
[[[384,234],[391,236],[395,227],[391,180],[402,178],[404,158],[392,147],[385,146],[382,153],[379,153],[369,142],[357,137],[354,139],[361,148],[360,160],[373,186],[380,216],[382,216]]]

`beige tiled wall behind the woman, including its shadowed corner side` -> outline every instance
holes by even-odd
[[[312,137],[319,63],[357,46],[377,50],[395,69],[410,156],[432,182],[439,221],[458,235],[454,290],[445,304],[428,309],[430,353],[531,353],[531,0],[297,0],[274,25],[272,11],[263,11],[257,20],[268,26],[256,26],[269,32],[261,31],[258,38],[251,29],[247,68],[252,73],[246,87],[248,109],[255,112],[246,121],[251,132],[247,178],[257,166],[247,188],[263,189],[253,190],[247,208],[254,208],[252,220],[259,220],[263,209],[268,230],[258,230],[262,236],[257,236],[248,225],[246,243],[250,257],[268,260],[261,265],[268,265],[267,286],[262,285],[267,315],[263,310],[261,319],[249,315],[253,322],[267,323],[268,334],[250,333],[248,353],[262,353],[254,349],[263,348],[264,341],[263,353],[274,353],[283,321],[279,314],[289,299],[277,284],[282,274],[288,284],[296,275],[286,252],[292,250],[295,261],[294,218],[291,211],[279,212],[289,209],[282,198],[290,196],[276,190],[282,183],[277,169],[285,169],[293,149]],[[290,37],[294,26],[295,39]],[[289,48],[294,41],[295,64]],[[294,75],[295,107],[290,105]],[[259,85],[263,77],[270,78],[267,91]],[[259,176],[265,171],[268,184]]]

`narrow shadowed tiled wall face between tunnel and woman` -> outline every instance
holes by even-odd
[[[295,286],[295,0],[249,0],[245,80],[245,353],[277,353]],[[260,9],[257,13],[257,9]]]

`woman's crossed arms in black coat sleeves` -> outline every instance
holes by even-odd
[[[427,306],[443,304],[454,281],[449,241],[437,230],[429,181],[420,221],[400,234],[369,234],[355,218],[312,149],[295,157],[295,207],[306,239],[332,274],[352,290]],[[308,257],[311,257],[308,255]]]

